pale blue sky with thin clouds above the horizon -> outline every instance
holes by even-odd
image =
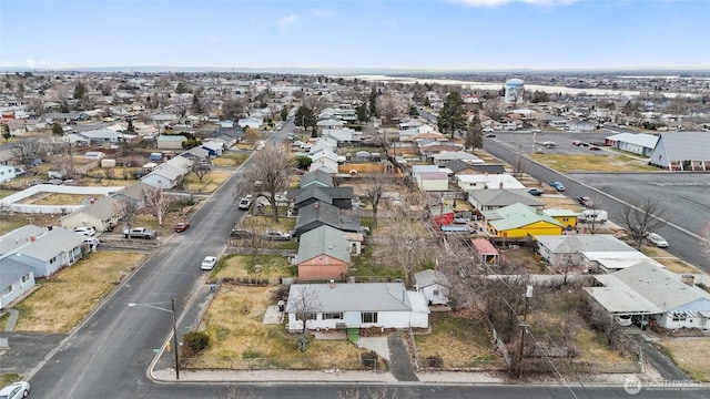
[[[710,0],[0,0],[0,66],[710,69]]]

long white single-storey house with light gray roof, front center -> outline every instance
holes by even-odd
[[[303,330],[304,319],[311,330],[429,327],[424,295],[402,283],[294,284],[286,313],[292,332]]]

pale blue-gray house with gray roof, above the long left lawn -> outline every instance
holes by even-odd
[[[36,277],[45,277],[81,259],[84,238],[81,234],[55,227],[9,256],[32,267]]]

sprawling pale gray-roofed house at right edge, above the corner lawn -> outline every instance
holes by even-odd
[[[694,286],[692,275],[640,263],[596,275],[595,280],[585,290],[612,315],[631,315],[669,329],[710,329],[710,294]]]

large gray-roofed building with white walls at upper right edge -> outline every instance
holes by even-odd
[[[669,171],[710,171],[710,132],[662,133],[648,163]]]

